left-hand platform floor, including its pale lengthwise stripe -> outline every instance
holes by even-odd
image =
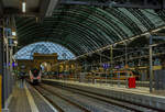
[[[9,112],[57,112],[28,82],[18,81],[9,104]]]

